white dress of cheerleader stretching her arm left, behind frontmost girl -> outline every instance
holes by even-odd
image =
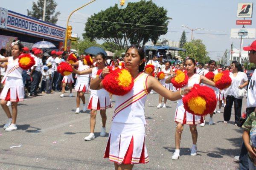
[[[98,67],[92,69],[92,78],[96,78],[98,70]],[[109,93],[105,89],[91,90],[89,101],[87,108],[90,110],[106,110],[112,107]]]

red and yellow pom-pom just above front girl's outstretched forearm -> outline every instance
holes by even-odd
[[[171,83],[175,88],[182,88],[188,84],[189,77],[186,73],[180,70],[175,70],[176,77],[171,79]]]

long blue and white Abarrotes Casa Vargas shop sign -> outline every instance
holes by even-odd
[[[0,28],[36,37],[63,41],[66,28],[0,8]]]

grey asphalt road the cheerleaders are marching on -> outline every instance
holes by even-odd
[[[90,132],[90,114],[75,114],[76,97],[60,98],[60,93],[45,94],[20,102],[17,131],[5,132],[6,115],[0,108],[0,170],[113,170],[113,163],[103,159],[106,137],[99,136],[101,119],[98,113],[96,139],[85,142]],[[89,94],[86,94],[88,102]],[[115,98],[113,97],[113,105]],[[173,161],[175,150],[174,113],[176,102],[157,109],[158,94],[149,94],[145,105],[146,145],[148,164],[134,166],[134,170],[221,170],[238,169],[233,159],[239,155],[242,130],[234,125],[234,114],[229,124],[223,123],[222,113],[213,117],[215,125],[198,126],[198,156],[190,156],[192,139],[185,125],[180,148],[180,159]],[[246,101],[243,101],[245,110]],[[80,107],[82,108],[82,107]],[[113,108],[107,110],[107,132]],[[206,121],[209,121],[207,117]],[[10,148],[12,146],[19,146]]]

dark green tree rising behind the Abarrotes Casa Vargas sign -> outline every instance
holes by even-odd
[[[61,14],[59,11],[55,13],[55,8],[58,4],[55,0],[46,1],[46,11],[45,11],[45,21],[48,23],[56,24],[58,21],[58,15]],[[43,19],[44,11],[44,0],[38,0],[37,3],[33,2],[32,11],[28,12],[28,16],[34,17],[37,19]]]

